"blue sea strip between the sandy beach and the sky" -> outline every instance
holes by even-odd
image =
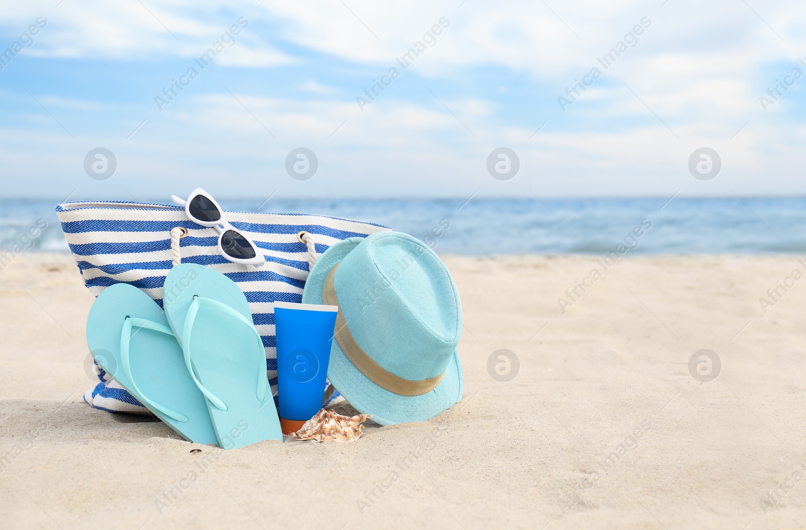
[[[0,200],[0,248],[39,219],[30,251],[69,252],[57,201]],[[166,203],[166,201],[156,201]],[[419,238],[438,254],[559,255],[806,253],[806,197],[591,199],[222,199],[235,211],[318,213],[376,222]],[[640,233],[640,237],[635,234]],[[24,242],[24,240],[23,240]]]

